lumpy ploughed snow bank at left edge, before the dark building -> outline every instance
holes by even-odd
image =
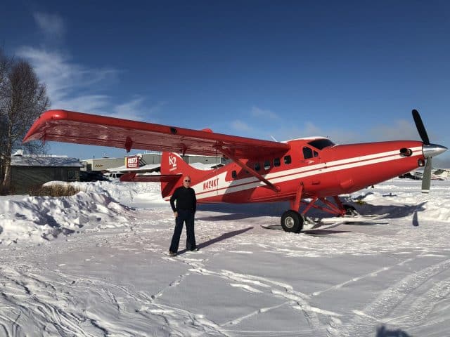
[[[0,201],[0,242],[39,243],[86,230],[128,225],[129,207],[107,194],[79,192],[72,197],[25,197]]]

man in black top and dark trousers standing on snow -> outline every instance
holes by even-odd
[[[183,178],[183,186],[178,187],[172,194],[170,206],[172,206],[175,215],[175,230],[169,248],[169,255],[176,256],[176,253],[178,253],[183,223],[186,223],[186,249],[188,251],[198,251],[194,234],[194,215],[197,209],[197,198],[195,197],[195,191],[191,188],[190,176],[185,176]]]

